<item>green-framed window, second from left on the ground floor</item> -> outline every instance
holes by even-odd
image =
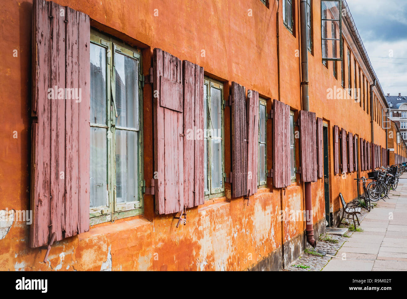
[[[205,199],[224,195],[223,84],[204,78]]]

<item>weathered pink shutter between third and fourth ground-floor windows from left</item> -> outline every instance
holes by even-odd
[[[291,184],[290,106],[278,100],[273,104],[273,181],[275,188]]]

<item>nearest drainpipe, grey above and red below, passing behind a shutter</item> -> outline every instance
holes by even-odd
[[[306,30],[306,0],[300,2],[300,19],[301,19],[301,89],[302,89],[302,110],[309,111],[309,94],[308,94],[308,47],[307,47],[307,30]],[[312,196],[311,182],[304,182],[305,190],[305,213],[306,217],[305,234],[306,240],[312,247],[317,247],[317,241],[314,239],[314,227],[312,217]]]

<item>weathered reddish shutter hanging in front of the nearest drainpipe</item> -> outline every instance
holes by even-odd
[[[301,179],[317,181],[317,124],[315,112],[300,111]]]

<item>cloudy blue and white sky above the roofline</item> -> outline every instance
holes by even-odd
[[[407,95],[407,0],[346,0],[385,94]]]

